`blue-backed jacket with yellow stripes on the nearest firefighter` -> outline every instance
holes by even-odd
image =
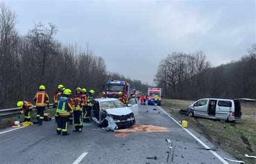
[[[69,97],[62,96],[58,100],[56,113],[59,117],[69,117],[73,113],[73,104]]]

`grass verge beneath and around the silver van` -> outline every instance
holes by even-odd
[[[235,123],[221,123],[219,120],[205,118],[188,118],[180,114],[180,109],[185,109],[193,101],[187,100],[170,100],[163,99],[162,106],[173,117],[179,120],[186,120],[188,127],[202,132],[208,140],[212,141],[215,146],[224,149],[232,154],[234,158],[243,160],[246,163],[256,163],[255,159],[246,158],[244,155],[253,155],[256,153],[256,118],[255,106],[242,106],[242,120]],[[243,112],[243,107],[246,112]],[[250,112],[251,111],[251,112]]]

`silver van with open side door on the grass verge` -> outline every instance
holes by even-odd
[[[200,99],[188,107],[188,117],[204,117],[219,119],[221,122],[238,121],[242,119],[241,105],[254,99]]]

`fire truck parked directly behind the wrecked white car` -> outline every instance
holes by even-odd
[[[119,80],[107,81],[105,91],[107,98],[118,98],[118,92],[122,92],[129,97],[130,84]]]

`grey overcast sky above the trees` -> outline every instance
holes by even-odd
[[[62,43],[89,43],[107,70],[153,84],[161,58],[203,50],[213,66],[238,60],[255,43],[254,1],[4,1],[25,34],[58,26]]]

